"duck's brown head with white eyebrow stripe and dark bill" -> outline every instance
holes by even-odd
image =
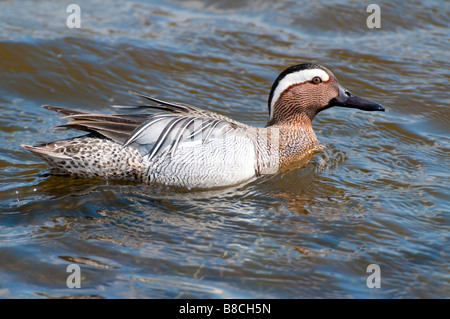
[[[344,89],[327,68],[303,63],[281,72],[272,85],[267,125],[281,123],[301,114],[312,121],[317,113],[332,106],[384,111],[380,104]]]

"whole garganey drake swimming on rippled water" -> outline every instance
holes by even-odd
[[[319,146],[311,122],[320,111],[332,106],[384,111],[380,104],[344,89],[333,73],[313,63],[280,73],[269,95],[269,121],[261,128],[133,94],[154,103],[140,107],[164,112],[104,115],[44,105],[72,119],[64,127],[89,134],[23,147],[55,174],[213,188],[274,174],[303,159]]]

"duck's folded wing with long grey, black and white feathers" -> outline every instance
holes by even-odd
[[[129,92],[156,103],[139,107],[167,113],[108,115],[90,114],[50,105],[42,107],[73,119],[62,125],[63,127],[99,133],[123,144],[123,147],[137,148],[149,160],[165,151],[173,156],[184,142],[195,138],[201,138],[204,144],[211,138],[221,138],[231,131],[247,127],[214,112]]]

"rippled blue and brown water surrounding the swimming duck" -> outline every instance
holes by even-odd
[[[380,29],[354,1],[77,1],[69,29],[67,4],[2,1],[0,296],[450,297],[449,3],[377,3]],[[263,126],[305,61],[387,112],[321,113],[309,164],[246,185],[50,176],[20,147],[79,134],[41,104],[113,113],[128,90]]]

